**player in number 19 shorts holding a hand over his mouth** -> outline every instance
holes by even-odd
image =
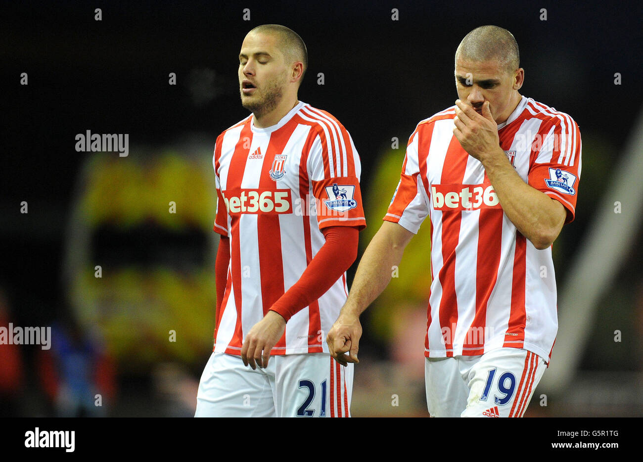
[[[460,42],[459,99],[411,135],[385,222],[327,338],[339,362],[358,362],[359,315],[428,216],[431,416],[522,416],[554,346],[552,243],[574,219],[581,136],[570,116],[521,96],[523,80],[507,30],[482,26]]]

